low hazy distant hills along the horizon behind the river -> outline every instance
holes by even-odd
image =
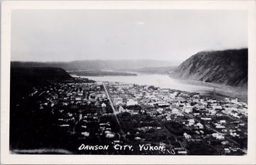
[[[169,61],[153,59],[81,60],[73,62],[11,62],[11,67],[59,67],[65,71],[139,69],[143,67],[166,67],[171,65],[172,63]]]

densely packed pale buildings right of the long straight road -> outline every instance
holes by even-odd
[[[135,84],[114,83],[109,84],[109,89],[119,113],[137,115],[138,111],[132,106],[141,106],[151,116],[182,123],[193,132],[192,135],[183,132],[183,139],[186,142],[217,140],[222,144],[233,137],[247,137],[247,104],[238,101],[238,98],[224,98],[219,101],[213,97],[200,96],[198,93],[154,89]],[[206,129],[212,132],[206,134]],[[225,147],[227,145],[233,146],[232,149],[234,145],[236,149],[240,149],[238,144],[233,142],[228,142]],[[222,146],[218,147],[223,150]]]

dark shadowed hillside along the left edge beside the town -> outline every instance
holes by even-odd
[[[55,84],[56,82],[60,83]],[[9,104],[9,144],[11,152],[14,152],[16,149],[19,151],[31,149],[32,152],[26,152],[29,154],[38,154],[38,151],[44,154],[63,154],[63,152],[68,152],[65,149],[53,149],[54,147],[60,147],[58,142],[60,138],[64,141],[65,135],[58,134],[60,127],[56,126],[53,108],[47,107],[41,110],[38,102],[53,101],[50,97],[53,95],[48,93],[46,89],[55,91],[57,90],[56,86],[60,87],[65,83],[77,82],[87,83],[95,81],[75,79],[65,70],[55,67],[11,67]],[[54,87],[52,86],[53,84],[55,84]],[[31,97],[30,93],[35,91],[33,87],[43,92]],[[41,96],[45,92],[48,94]],[[58,92],[58,95],[60,94],[61,92]],[[68,144],[70,139],[65,142]],[[14,153],[17,154],[18,152]],[[22,154],[22,152],[18,154]]]

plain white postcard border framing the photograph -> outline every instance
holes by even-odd
[[[1,164],[256,164],[256,1],[2,1]],[[248,152],[246,156],[29,155],[9,153],[12,9],[227,9],[248,12]]]

